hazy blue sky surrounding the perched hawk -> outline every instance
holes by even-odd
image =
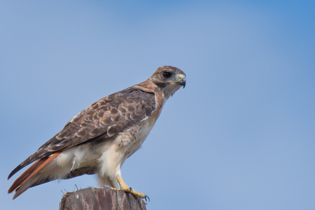
[[[1,209],[97,186],[6,193],[69,119],[162,65],[186,88],[122,167],[148,210],[314,209],[314,1],[1,1],[0,19]]]

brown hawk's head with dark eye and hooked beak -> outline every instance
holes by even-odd
[[[186,85],[185,73],[173,66],[161,66],[149,80],[161,88],[167,97],[172,96],[181,86]]]

